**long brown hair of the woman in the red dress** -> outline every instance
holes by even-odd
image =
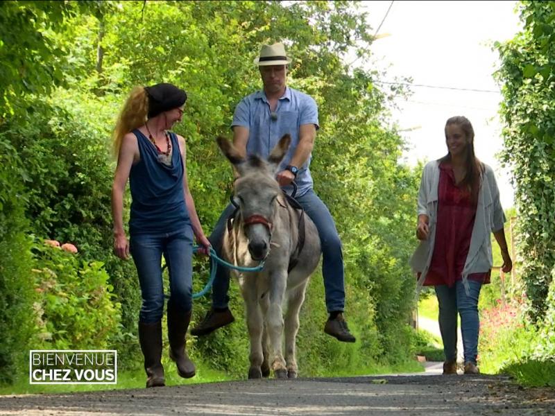
[[[472,123],[465,116],[454,116],[447,120],[445,123],[445,140],[447,140],[447,126],[448,125],[458,125],[461,130],[463,130],[466,135],[468,143],[466,144],[466,161],[465,168],[466,174],[461,183],[461,187],[466,187],[472,199],[477,200],[478,190],[480,188],[481,173],[484,171],[484,165],[478,160],[474,152],[474,128],[472,128]],[[451,153],[447,152],[447,155],[439,159],[439,162],[450,162]]]

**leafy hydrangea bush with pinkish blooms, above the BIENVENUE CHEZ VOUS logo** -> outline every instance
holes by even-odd
[[[37,336],[35,349],[107,349],[119,333],[121,305],[98,261],[42,242],[33,246]]]

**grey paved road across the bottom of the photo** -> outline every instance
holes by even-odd
[[[555,415],[555,391],[498,376],[371,376],[234,381],[0,397],[0,415]]]

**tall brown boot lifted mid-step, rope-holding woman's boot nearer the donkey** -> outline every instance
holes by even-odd
[[[169,358],[176,362],[178,374],[184,379],[195,375],[195,365],[185,349],[185,333],[191,322],[191,311],[182,312],[176,307],[168,306],[168,340]]]

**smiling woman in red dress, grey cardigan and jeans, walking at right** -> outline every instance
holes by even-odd
[[[503,228],[506,218],[493,170],[475,156],[470,121],[463,116],[448,119],[445,141],[447,155],[429,162],[422,172],[416,228],[420,245],[411,265],[418,272],[418,288],[436,290],[443,374],[456,374],[457,313],[464,372],[478,374],[478,297],[481,285],[490,282],[493,266],[490,232],[501,248],[502,270],[512,268]]]

